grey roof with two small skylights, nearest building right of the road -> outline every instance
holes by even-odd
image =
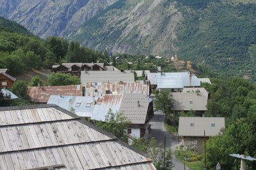
[[[193,126],[192,126],[193,125]],[[180,117],[179,136],[216,136],[225,128],[224,117]]]

